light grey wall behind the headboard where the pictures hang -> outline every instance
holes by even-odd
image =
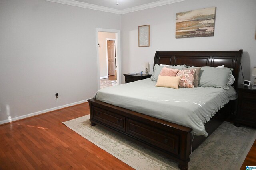
[[[176,13],[216,6],[213,37],[175,38]],[[122,72],[138,72],[159,51],[244,50],[245,79],[253,79],[256,66],[256,0],[187,0],[156,8],[122,14]],[[132,20],[132,22],[131,22]],[[150,25],[150,47],[138,47],[138,26]],[[242,81],[240,76],[239,82]],[[124,82],[124,77],[122,79]]]

